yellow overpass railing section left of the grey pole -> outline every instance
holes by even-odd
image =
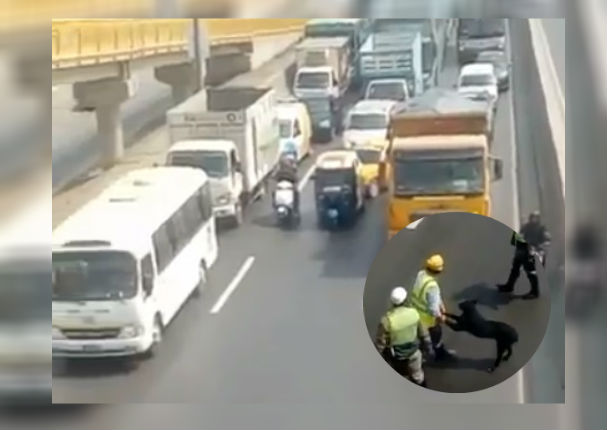
[[[189,19],[53,20],[52,68],[128,61],[188,50]]]

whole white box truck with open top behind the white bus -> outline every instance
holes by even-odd
[[[201,91],[167,113],[169,165],[200,167],[211,180],[217,218],[242,222],[243,208],[262,196],[279,157],[274,90]]]

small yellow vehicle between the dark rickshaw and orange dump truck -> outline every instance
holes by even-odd
[[[385,189],[386,172],[380,166],[386,161],[386,147],[385,139],[375,139],[353,148],[362,165],[361,175],[366,197],[375,198]]]

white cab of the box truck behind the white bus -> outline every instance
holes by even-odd
[[[216,218],[242,221],[243,177],[234,142],[229,140],[185,140],[168,151],[166,164],[203,169],[211,184]]]

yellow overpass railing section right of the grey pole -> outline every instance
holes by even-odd
[[[211,45],[303,31],[306,19],[204,19]]]

